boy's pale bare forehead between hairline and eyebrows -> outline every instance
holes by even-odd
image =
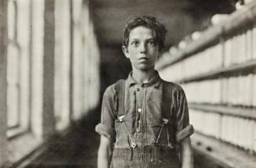
[[[129,38],[155,38],[155,33],[148,27],[134,27],[129,34]]]

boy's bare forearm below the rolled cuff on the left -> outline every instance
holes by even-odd
[[[100,136],[98,151],[98,168],[109,168],[112,155],[112,142],[105,136]]]

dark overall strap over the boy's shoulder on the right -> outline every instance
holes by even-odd
[[[173,120],[171,115],[171,95],[172,95],[172,87],[171,82],[163,81],[163,102],[164,102],[164,113],[163,117],[168,120]]]

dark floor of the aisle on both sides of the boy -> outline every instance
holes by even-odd
[[[96,167],[99,135],[94,131],[96,121],[89,119],[75,125],[63,138],[53,141],[49,148],[26,167],[31,168],[92,168]],[[222,168],[207,156],[194,152],[194,168]]]

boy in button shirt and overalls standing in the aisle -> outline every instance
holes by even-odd
[[[101,123],[96,126],[101,134],[99,168],[193,167],[193,127],[184,91],[154,70],[166,32],[153,16],[127,22],[122,50],[132,73],[103,95]]]

